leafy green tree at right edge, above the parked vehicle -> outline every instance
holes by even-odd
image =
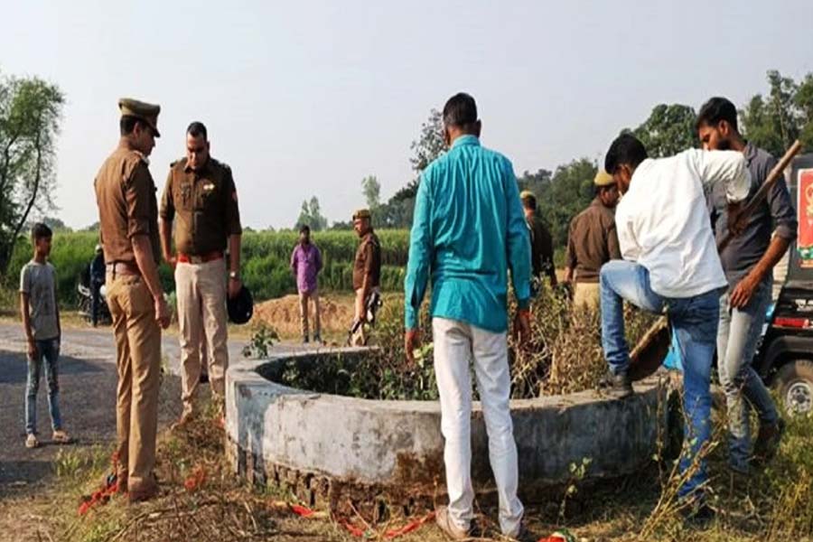
[[[774,156],[785,154],[797,138],[813,148],[813,74],[797,84],[770,70],[768,84],[767,98],[757,94],[739,111],[743,135]]]

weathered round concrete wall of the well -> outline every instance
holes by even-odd
[[[359,352],[329,350],[324,362]],[[258,372],[273,372],[268,364],[290,359],[229,367],[226,430],[237,472],[259,482],[304,479],[305,489],[333,480],[412,495],[432,494],[443,483],[436,401],[324,395],[282,386]],[[591,460],[591,479],[629,474],[649,463],[666,419],[665,388],[652,378],[636,390],[621,400],[585,391],[512,401],[522,491],[573,480],[571,464],[583,459]],[[493,485],[479,403],[472,413],[472,475],[481,490]]]

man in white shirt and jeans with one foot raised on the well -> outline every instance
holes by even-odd
[[[728,283],[705,193],[720,186],[731,205],[731,223],[736,225],[751,177],[742,153],[690,149],[653,160],[629,134],[612,142],[604,168],[623,194],[615,225],[624,258],[606,263],[600,276],[602,347],[610,369],[606,384],[619,397],[632,393],[623,301],[652,313],[667,313],[684,363],[684,435],[690,443],[680,459],[680,472],[691,473],[679,496],[691,504],[687,515],[706,519],[714,514],[703,491],[708,480],[703,448],[711,432],[709,378],[719,297]]]

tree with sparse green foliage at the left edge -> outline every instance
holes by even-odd
[[[61,90],[42,79],[0,76],[0,275],[31,211],[53,207],[64,101]]]

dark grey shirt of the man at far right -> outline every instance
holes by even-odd
[[[745,164],[751,173],[751,191],[748,193],[750,201],[760,189],[762,182],[771,173],[777,160],[771,154],[757,148],[755,145],[745,145],[743,151]],[[711,211],[712,227],[715,229],[715,238],[719,243],[728,233],[728,203],[725,199],[723,186],[716,186],[709,194],[709,210]],[[720,253],[723,270],[728,284],[734,287],[743,276],[751,271],[752,267],[762,258],[771,244],[771,233],[775,230],[780,238],[793,241],[797,235],[796,210],[790,200],[788,185],[784,177],[774,182],[768,197],[753,211],[743,233],[732,239],[728,246]]]

